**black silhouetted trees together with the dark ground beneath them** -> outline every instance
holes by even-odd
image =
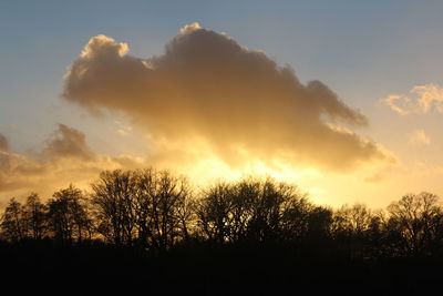
[[[143,285],[154,295],[391,295],[425,294],[443,276],[443,210],[431,193],[387,211],[333,210],[272,178],[196,191],[154,169],[105,171],[91,188],[10,200],[3,278]]]

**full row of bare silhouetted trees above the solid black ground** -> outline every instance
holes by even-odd
[[[210,246],[285,246],[299,254],[351,258],[440,256],[443,208],[431,193],[388,208],[316,205],[295,185],[244,178],[195,190],[167,171],[105,171],[84,193],[70,185],[42,202],[32,193],[3,210],[7,242],[103,242],[162,254]]]

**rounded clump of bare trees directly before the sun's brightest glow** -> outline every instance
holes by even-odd
[[[295,241],[306,235],[311,204],[297,187],[274,180],[219,183],[198,201],[198,225],[218,243]]]

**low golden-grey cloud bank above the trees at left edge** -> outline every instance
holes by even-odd
[[[138,169],[146,166],[137,157],[97,155],[89,147],[85,135],[70,126],[59,124],[40,152],[19,154],[4,143],[0,149],[0,197],[37,191],[51,196],[60,186],[73,182],[86,186],[102,170]],[[4,149],[7,147],[7,149]]]

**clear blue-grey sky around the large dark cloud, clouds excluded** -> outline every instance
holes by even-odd
[[[119,143],[109,135],[115,122],[63,102],[63,75],[91,37],[112,37],[128,43],[132,55],[150,58],[179,28],[199,22],[289,64],[303,83],[324,82],[369,118],[359,133],[405,163],[443,164],[442,114],[405,119],[379,103],[414,85],[443,85],[442,11],[442,1],[1,1],[0,133],[20,153],[41,149],[58,123],[84,132],[100,153],[148,149],[135,140]],[[432,145],[405,145],[415,130]],[[437,177],[430,177],[430,188]]]

